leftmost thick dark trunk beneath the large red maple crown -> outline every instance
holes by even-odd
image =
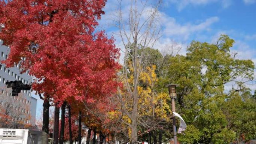
[[[42,127],[42,144],[48,144],[49,135],[49,96],[45,96],[43,101],[43,127]]]

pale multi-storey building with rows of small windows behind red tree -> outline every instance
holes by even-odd
[[[2,45],[2,41],[0,41],[0,61],[7,58],[9,53],[9,48]],[[20,73],[20,65],[17,64],[15,67],[6,68],[4,64],[0,63],[0,104],[4,104],[4,97],[3,96],[11,96],[12,89],[5,88],[5,82],[8,81],[15,81],[21,80],[24,84],[30,84],[32,81],[32,77],[28,75],[28,72],[21,74]],[[21,96],[22,95],[22,98]],[[15,99],[16,96],[13,96]],[[21,106],[16,105],[16,110],[21,113],[19,120],[35,125],[36,124],[36,104],[37,99],[31,96],[31,91],[21,91],[18,96],[19,103],[22,103]],[[13,107],[15,107],[15,102],[13,103]],[[29,117],[27,117],[29,115]]]

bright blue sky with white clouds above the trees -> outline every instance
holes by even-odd
[[[98,29],[113,35],[116,46],[122,47],[120,38],[115,35],[118,29],[112,25],[117,1],[107,1],[106,14]],[[129,1],[122,0],[124,10]],[[238,52],[237,58],[252,59],[256,63],[256,0],[163,0],[159,13],[162,37],[156,49],[176,43],[182,47],[180,54],[185,54],[192,40],[216,42],[220,34],[227,34],[236,42],[231,52]],[[256,89],[253,83],[249,87]],[[37,114],[40,110],[42,100],[39,99]]]

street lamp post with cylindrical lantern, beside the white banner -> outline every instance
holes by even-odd
[[[179,86],[177,84],[169,84],[165,87],[169,88],[169,96],[171,98],[171,111],[175,112],[175,99],[177,98],[176,87]],[[173,114],[173,140],[174,144],[177,144],[177,130],[176,130],[176,119]]]

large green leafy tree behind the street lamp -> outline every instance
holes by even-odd
[[[169,59],[168,76],[159,85],[180,84],[177,110],[188,125],[185,135],[179,135],[180,142],[228,144],[241,134],[245,135],[244,140],[255,138],[252,109],[256,103],[245,82],[237,81],[252,80],[254,64],[235,59],[230,53],[233,44],[234,40],[226,35],[220,36],[216,44],[193,41],[186,56]],[[236,82],[238,88],[225,92],[224,85],[229,82]],[[242,126],[247,123],[250,132]]]

